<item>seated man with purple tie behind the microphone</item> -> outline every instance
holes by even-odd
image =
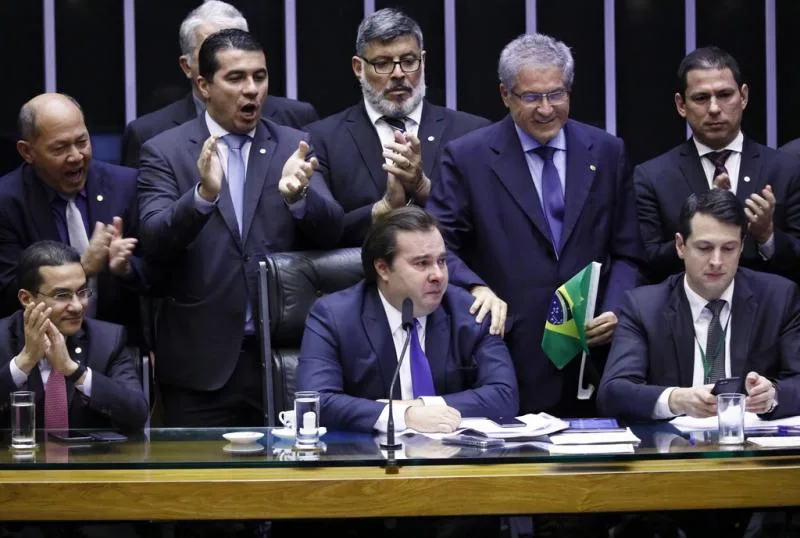
[[[306,321],[299,390],[321,393],[321,423],[386,431],[389,385],[414,323],[394,397],[397,431],[451,432],[462,416],[513,416],[518,394],[503,340],[490,320],[469,314],[472,296],[448,288],[436,220],[417,207],[392,211],[370,230],[361,252],[365,280],[317,301]],[[399,389],[399,390],[397,390]]]

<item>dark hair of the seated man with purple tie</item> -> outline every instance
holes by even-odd
[[[391,266],[397,253],[397,232],[427,232],[439,229],[436,218],[416,206],[394,209],[372,225],[361,247],[361,266],[364,269],[364,280],[375,282],[378,272],[375,270],[377,260],[385,260]]]

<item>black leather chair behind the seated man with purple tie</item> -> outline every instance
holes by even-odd
[[[352,286],[363,278],[361,249],[271,254],[259,264],[265,423],[275,425],[277,411],[292,409],[297,359],[306,316],[318,297]]]

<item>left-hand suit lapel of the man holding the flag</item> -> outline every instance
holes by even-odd
[[[497,154],[492,162],[492,169],[500,182],[539,230],[539,233],[551,241],[550,226],[544,218],[542,204],[539,202],[536,187],[533,185],[528,162],[522,152],[522,145],[514,129],[514,121],[511,116],[506,116],[499,126],[497,138],[489,143]]]

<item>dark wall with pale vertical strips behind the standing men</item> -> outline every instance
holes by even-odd
[[[270,93],[285,93],[283,0],[232,0],[264,44]],[[125,126],[122,0],[55,0],[58,90],[75,97],[98,141],[118,143]],[[776,0],[778,143],[800,136],[800,2]],[[185,94],[178,68],[178,27],[197,0],[136,0],[136,76],[139,115]],[[400,7],[422,27],[431,101],[444,104],[444,2],[375,0]],[[765,0],[697,0],[697,46],[716,44],[740,62],[750,85],[744,130],[766,142]],[[296,0],[299,98],[321,116],[360,99],[350,68],[361,0]],[[684,56],[684,2],[616,0],[617,134],[632,162],[651,158],[686,135],[675,111],[675,70]],[[0,50],[6,82],[0,99],[0,174],[15,167],[19,107],[44,91],[42,3],[0,2]],[[538,30],[565,41],[576,62],[572,116],[605,125],[603,2],[539,0]],[[505,114],[497,91],[502,47],[525,30],[524,0],[456,2],[457,100],[462,110],[497,120]],[[105,153],[109,153],[106,151]],[[113,152],[110,152],[113,154]],[[104,158],[104,155],[98,155]],[[113,155],[106,157],[112,160]]]

